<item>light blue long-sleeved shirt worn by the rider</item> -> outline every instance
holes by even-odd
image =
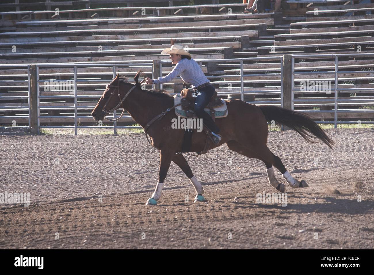
[[[192,88],[200,86],[209,80],[194,59],[182,58],[167,76],[153,79],[153,84],[168,83],[175,77],[180,76],[183,82],[190,83]]]

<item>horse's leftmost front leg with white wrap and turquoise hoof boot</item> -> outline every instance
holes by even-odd
[[[174,153],[171,152],[171,150],[160,150],[159,182],[156,184],[156,189],[145,205],[156,205],[157,201],[160,199],[163,181],[166,178],[166,174],[168,174],[173,155]]]

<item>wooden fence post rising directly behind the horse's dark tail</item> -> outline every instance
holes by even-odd
[[[284,109],[292,110],[292,55],[283,55],[282,64],[282,106]],[[288,127],[282,125],[282,130],[290,130]]]

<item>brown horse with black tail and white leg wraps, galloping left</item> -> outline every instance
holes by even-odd
[[[203,187],[194,177],[186,159],[180,153],[184,129],[171,127],[172,119],[177,118],[174,110],[168,111],[174,106],[174,99],[163,92],[142,89],[141,83],[138,82],[141,73],[144,74],[142,71],[138,71],[135,75],[135,85],[120,78],[117,74],[116,78],[107,85],[91,115],[95,120],[103,120],[109,112],[122,106],[137,123],[146,128],[151,145],[160,150],[159,182],[153,195],[148,199],[147,205],[155,205],[156,201],[160,199],[163,182],[171,162],[177,164],[190,179],[197,193],[195,202],[203,201]],[[256,106],[242,100],[227,100],[226,104],[228,116],[216,120],[217,126],[221,129],[222,140],[218,145],[211,144],[209,150],[226,143],[230,150],[248,158],[260,159],[266,165],[269,183],[282,193],[285,191],[285,187],[275,178],[272,165],[281,171],[291,187],[308,187],[304,180],[295,180],[286,170],[281,159],[267,147],[267,122],[273,120],[280,125],[285,125],[297,131],[310,143],[319,139],[332,149],[334,142],[326,135],[325,131],[309,116],[297,111],[275,106]],[[150,121],[158,115],[161,118],[154,120],[148,128],[147,124],[149,125]],[[206,138],[204,131],[194,131],[190,152],[202,151]]]

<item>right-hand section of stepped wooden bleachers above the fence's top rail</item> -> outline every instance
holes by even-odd
[[[296,4],[291,0],[286,2]],[[331,1],[322,1],[322,3],[331,3]],[[259,56],[373,52],[374,14],[371,14],[373,7],[367,7],[366,4],[355,6],[357,6],[356,11],[339,7],[335,10],[335,14],[339,16],[325,16],[334,12],[332,9],[319,10],[320,7],[307,11],[306,14],[312,16],[312,20],[311,17],[307,17],[304,21],[291,23],[289,34],[276,34],[273,46],[258,48]],[[363,12],[365,15],[362,15]]]

